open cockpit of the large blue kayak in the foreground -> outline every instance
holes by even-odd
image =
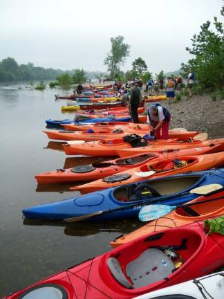
[[[201,176],[180,176],[176,178],[157,179],[144,181],[115,188],[113,197],[117,201],[137,201],[161,197],[163,195],[176,194],[193,188]]]

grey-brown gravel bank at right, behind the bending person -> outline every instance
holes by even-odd
[[[213,101],[209,95],[193,96],[189,100],[163,100],[160,105],[171,113],[170,127],[184,127],[190,131],[203,131],[209,138],[223,138],[224,100]],[[147,105],[148,106],[148,105]]]

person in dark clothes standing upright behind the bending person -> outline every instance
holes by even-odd
[[[136,84],[131,81],[130,83],[131,89],[130,89],[130,101],[129,101],[129,107],[130,107],[130,114],[133,123],[139,123],[138,120],[138,105],[140,103],[140,94],[141,90]]]

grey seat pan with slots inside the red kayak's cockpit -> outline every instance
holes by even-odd
[[[126,273],[133,288],[138,288],[167,278],[174,268],[174,263],[163,251],[149,248],[127,264]]]

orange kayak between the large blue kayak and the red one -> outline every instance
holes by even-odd
[[[193,205],[191,208],[198,213],[198,216],[189,215],[183,208],[177,208],[176,210],[170,212],[165,217],[161,217],[159,219],[150,221],[146,225],[138,228],[138,230],[133,231],[133,233],[129,233],[128,235],[124,235],[118,239],[115,239],[111,242],[111,246],[118,247],[124,243],[133,241],[134,239],[138,239],[138,237],[142,237],[144,235],[149,235],[154,231],[159,231],[164,228],[174,228],[178,226],[183,226],[185,224],[190,224],[194,221],[201,221],[205,219],[209,219],[212,217],[217,217],[219,215],[224,214],[224,190],[222,189],[219,192],[212,192],[213,194],[209,196],[201,196],[197,199],[189,201],[188,203],[197,203],[199,201],[208,201],[205,203],[201,203],[198,205]],[[209,201],[210,199],[218,199],[217,201]]]

